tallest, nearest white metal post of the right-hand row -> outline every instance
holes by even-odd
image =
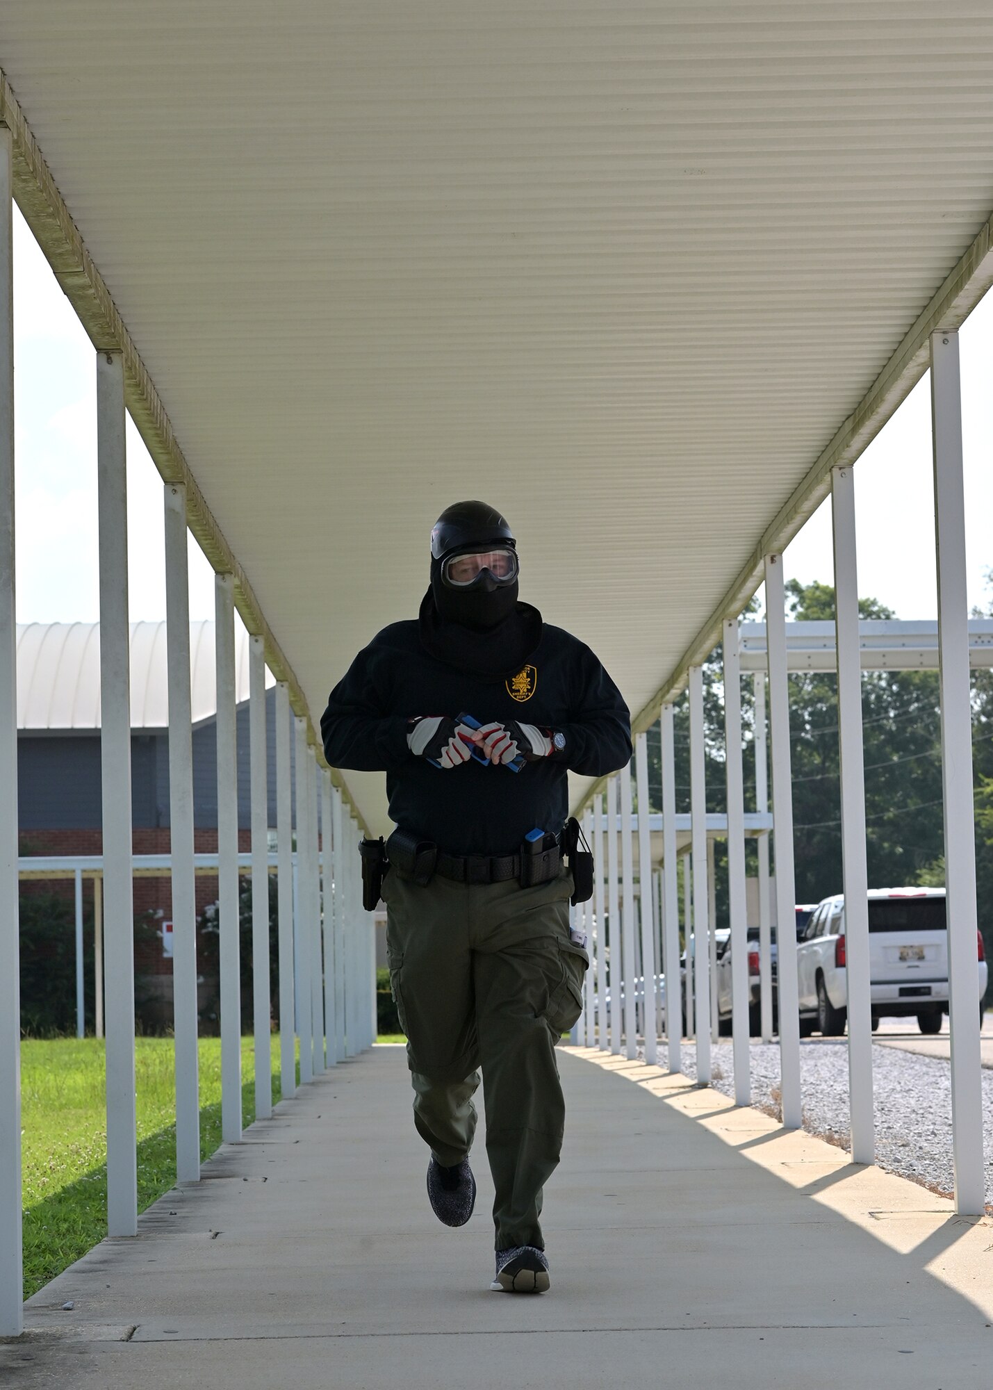
[[[965,492],[958,334],[930,338],[930,404],[937,549],[937,652],[942,688],[942,791],[948,917],[948,1033],[955,1211],[985,1211],[983,1109],[976,998],[976,855],[972,805],[972,712]]]

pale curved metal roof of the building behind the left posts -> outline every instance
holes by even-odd
[[[238,701],[248,699],[249,638],[235,627]],[[214,624],[189,624],[193,723],[217,712]],[[266,682],[273,677],[266,673]],[[18,623],[17,727],[100,727],[100,624]],[[167,728],[166,623],[131,624],[131,727]]]

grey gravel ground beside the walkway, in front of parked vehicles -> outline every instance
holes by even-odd
[[[713,1086],[734,1094],[732,1044],[712,1049]],[[683,1045],[683,1070],[697,1076],[697,1049]],[[951,1197],[951,1069],[946,1061],[890,1047],[872,1048],[876,1162],[880,1168]],[[814,1040],[800,1044],[804,1129],[847,1147],[848,1047]],[[983,1070],[986,1201],[993,1202],[993,1072]],[[779,1045],[751,1047],[751,1101],[779,1115]]]

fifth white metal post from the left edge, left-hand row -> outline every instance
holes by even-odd
[[[252,778],[252,1034],[255,1113],[273,1113],[271,992],[268,983],[268,749],[266,642],[249,638],[249,756]]]

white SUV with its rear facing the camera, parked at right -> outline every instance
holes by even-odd
[[[978,937],[976,1002],[986,994],[983,938]],[[917,1015],[922,1033],[939,1033],[948,1012],[948,941],[944,888],[869,890],[872,1026],[883,1015]],[[844,897],[819,902],[797,942],[800,1033],[844,1033],[847,1017]]]

